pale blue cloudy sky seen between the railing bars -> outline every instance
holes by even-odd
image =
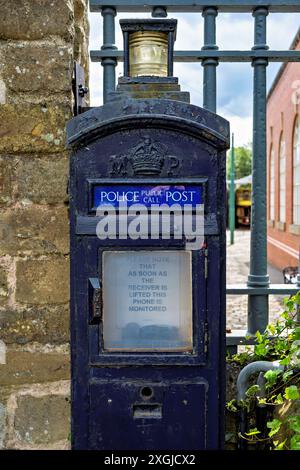
[[[123,49],[121,18],[151,18],[151,14],[122,13],[116,16],[116,46]],[[201,13],[170,14],[177,18],[175,50],[199,50],[203,45],[203,18]],[[101,48],[102,16],[90,13],[90,50]],[[217,17],[217,45],[224,50],[249,50],[253,45],[254,19],[250,13],[220,13]],[[300,26],[300,13],[272,13],[267,19],[267,42],[270,49],[288,49]],[[270,63],[267,68],[268,89],[280,64]],[[300,64],[299,77],[300,77]],[[116,77],[122,76],[123,64],[119,63]],[[182,91],[189,91],[191,103],[202,106],[203,69],[200,63],[174,64],[174,76],[179,78]],[[251,63],[221,63],[217,67],[217,113],[230,121],[235,146],[248,145],[252,140],[252,81]],[[102,104],[102,67],[90,63],[90,103]]]

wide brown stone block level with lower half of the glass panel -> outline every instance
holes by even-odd
[[[64,344],[69,337],[68,304],[0,311],[0,338],[6,344]]]

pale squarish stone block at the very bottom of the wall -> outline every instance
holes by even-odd
[[[68,439],[69,421],[67,396],[22,395],[17,399],[15,435],[19,443],[48,444]]]

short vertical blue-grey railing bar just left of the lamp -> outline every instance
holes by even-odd
[[[115,16],[116,9],[113,7],[103,7],[101,10],[103,16],[103,46],[102,50],[114,50],[115,46]],[[103,102],[108,100],[108,94],[115,90],[116,86],[116,59],[106,57],[101,62],[103,66]]]

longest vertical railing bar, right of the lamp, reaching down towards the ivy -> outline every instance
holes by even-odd
[[[253,49],[266,50],[268,9],[253,10]],[[253,160],[249,287],[269,285],[267,274],[267,148],[266,148],[266,58],[254,59],[253,66]],[[264,331],[268,324],[268,296],[248,296],[248,333]]]

